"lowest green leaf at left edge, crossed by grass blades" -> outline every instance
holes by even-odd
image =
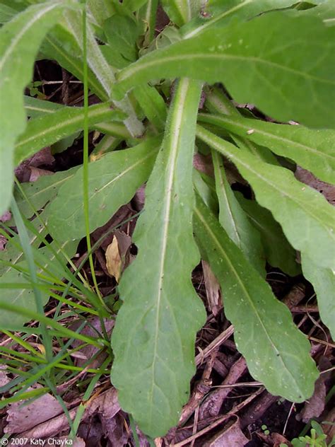
[[[59,248],[55,248],[57,254],[61,252],[66,252],[69,257],[73,257],[76,253],[76,248],[78,241],[67,240]],[[60,265],[54,253],[49,250],[49,248],[42,248],[40,250],[34,250],[34,255],[38,255],[38,261],[42,262],[42,267],[48,269],[52,274],[56,274],[57,277],[64,276],[64,267]],[[16,267],[27,270],[27,262],[19,262]],[[42,268],[37,268],[37,273],[42,273]],[[18,289],[8,289],[6,284],[18,285]],[[20,289],[20,284],[30,283],[29,274],[25,274],[16,269],[10,269],[8,272],[0,277],[0,303],[9,303],[11,305],[20,306],[29,310],[37,310],[34,298],[34,292],[32,289]],[[47,283],[45,283],[47,284]],[[51,284],[50,284],[51,286]],[[42,294],[42,304],[45,305],[49,299],[49,294],[47,291],[41,291]],[[7,310],[1,310],[0,313],[0,327],[3,329],[14,330],[20,327],[24,323],[27,323],[30,318],[25,315],[20,315],[19,313],[8,312]]]

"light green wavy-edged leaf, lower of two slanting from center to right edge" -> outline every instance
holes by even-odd
[[[252,186],[257,202],[281,223],[288,241],[319,265],[335,269],[335,209],[290,170],[259,160],[198,126],[197,137],[228,156]]]

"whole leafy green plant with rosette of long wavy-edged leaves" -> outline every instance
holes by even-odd
[[[155,37],[157,0],[0,0],[7,22],[0,30],[0,214],[11,204],[13,166],[86,130],[82,167],[14,190],[16,222],[25,216],[25,245],[30,241],[32,250],[22,254],[18,236],[3,231],[0,325],[26,330],[23,324],[36,318],[48,343],[47,318],[38,310],[57,284],[63,301],[66,294],[74,303],[80,297],[100,318],[110,317],[96,281],[93,291],[66,262],[73,241],[86,236],[89,246],[89,232],[147,182],[134,233],[139,254],[119,284],[111,378],[124,410],[150,436],[177,424],[187,402],[194,339],[205,321],[191,281],[201,258],[221,284],[225,315],[250,373],[274,395],[302,402],[318,372],[307,338],[264,279],[266,260],[295,275],[300,251],[321,318],[335,331],[334,208],[292,172],[297,163],[334,182],[334,3],[310,0],[307,10],[293,0],[160,3],[176,26]],[[38,51],[101,103],[88,106],[87,90],[84,108],[24,97]],[[201,91],[206,100],[199,112]],[[300,125],[240,114],[227,91],[277,122]],[[89,164],[88,128],[112,137],[107,153]],[[215,182],[192,170],[194,151],[211,153]],[[224,158],[249,183],[253,199],[233,192]],[[39,248],[41,240],[49,250]],[[106,338],[83,341],[106,346]]]

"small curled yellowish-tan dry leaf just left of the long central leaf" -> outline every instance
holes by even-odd
[[[107,270],[117,282],[119,282],[122,271],[127,265],[127,254],[130,245],[130,236],[123,231],[115,231],[112,243],[107,247],[105,253]]]

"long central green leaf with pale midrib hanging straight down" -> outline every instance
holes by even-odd
[[[112,334],[112,383],[120,405],[153,438],[177,424],[188,400],[196,330],[205,321],[191,281],[199,262],[192,157],[200,91],[187,79],[175,91],[134,233],[139,254],[119,284],[124,303]]]

